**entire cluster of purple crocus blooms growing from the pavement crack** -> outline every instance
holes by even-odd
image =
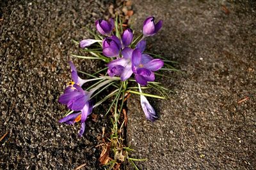
[[[67,105],[67,108],[72,110],[73,113],[62,118],[60,120],[61,123],[75,124],[76,122],[81,122],[79,136],[82,136],[86,118],[92,113],[93,104],[91,98],[96,90],[116,80],[116,76],[120,77],[119,80],[126,81],[134,75],[141,93],[140,85],[146,86],[148,82],[155,80],[154,72],[161,69],[164,62],[161,59],[154,59],[147,53],[144,53],[147,44],[145,38],[156,34],[163,24],[162,20],[157,22],[157,24],[155,24],[154,20],[154,17],[146,18],[143,23],[143,36],[138,41],[134,41],[134,34],[130,28],[118,34],[119,37],[114,35],[113,28],[115,27],[115,22],[112,18],[108,21],[100,19],[95,22],[97,31],[104,36],[104,39],[83,39],[79,45],[81,48],[86,48],[93,43],[102,43],[102,54],[111,60],[107,64],[109,79],[102,81],[91,90],[83,90],[82,86],[84,83],[99,80],[100,78],[83,80],[78,76],[74,64],[70,62],[72,81],[68,83],[64,94],[60,96],[59,102]],[[154,108],[143,95],[141,95],[141,107],[148,120],[156,120]]]

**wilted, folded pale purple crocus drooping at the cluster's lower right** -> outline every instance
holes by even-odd
[[[152,121],[152,122],[154,120],[156,120],[157,119],[156,111],[150,105],[150,103],[148,102],[148,100],[145,96],[143,96],[143,95],[140,96],[140,103],[141,103],[142,110],[144,111],[145,116],[147,117],[147,119]]]

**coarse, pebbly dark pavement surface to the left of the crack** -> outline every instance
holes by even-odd
[[[1,1],[0,169],[99,169],[97,159],[105,120],[59,124],[67,108],[58,103],[70,81],[71,39],[88,38],[83,26],[108,16],[107,1]],[[99,62],[73,59],[87,72]],[[85,77],[84,77],[85,78]],[[99,111],[99,110],[98,110]],[[97,110],[94,113],[98,113]]]

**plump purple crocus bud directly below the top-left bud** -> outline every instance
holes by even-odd
[[[102,41],[103,55],[116,57],[121,49],[121,42],[116,36],[107,37]]]

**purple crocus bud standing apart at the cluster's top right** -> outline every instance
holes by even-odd
[[[154,17],[148,17],[144,23],[143,23],[143,35],[144,36],[153,36],[156,34],[159,29],[161,29],[163,25],[163,21],[159,20],[157,24],[154,22],[155,18]]]

